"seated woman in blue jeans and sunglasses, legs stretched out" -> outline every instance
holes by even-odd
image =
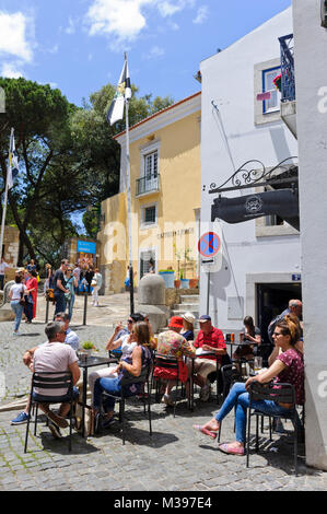
[[[253,382],[265,384],[275,378],[276,387],[278,387],[278,383],[292,384],[295,389],[296,405],[303,405],[304,402],[303,354],[295,349],[295,343],[299,340],[299,329],[296,324],[290,319],[290,316],[285,316],[283,320],[276,324],[272,338],[275,344],[282,349],[282,353],[278,355],[271,367],[248,378],[245,384],[234,384],[217,416],[203,427],[194,425],[195,430],[215,439],[220,422],[236,407],[236,441],[231,444],[220,444],[219,448],[224,453],[244,455],[246,411],[249,406],[249,394],[246,390]],[[276,404],[271,400],[259,400],[253,401],[253,407],[268,416],[269,413],[282,416],[287,414],[292,406],[288,404]],[[300,420],[297,420],[297,422],[300,423]]]

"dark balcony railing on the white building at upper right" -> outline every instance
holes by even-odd
[[[295,100],[294,37],[293,34],[279,38],[281,49],[281,101]]]

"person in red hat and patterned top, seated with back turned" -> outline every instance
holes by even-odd
[[[168,324],[168,330],[157,336],[156,355],[161,359],[177,359],[178,364],[178,379],[179,382],[187,382],[188,367],[183,362],[183,355],[195,357],[195,349],[192,344],[187,341],[179,332],[183,329],[183,317],[173,316]],[[171,397],[171,390],[175,385],[177,371],[167,367],[155,366],[153,376],[167,381],[167,386],[163,396],[163,401],[166,405],[174,405]]]

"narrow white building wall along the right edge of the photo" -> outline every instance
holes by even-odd
[[[327,28],[319,0],[293,0],[303,256],[306,462],[327,469]]]

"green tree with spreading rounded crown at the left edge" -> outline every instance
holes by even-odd
[[[22,262],[24,245],[30,257],[35,258],[28,230],[42,192],[47,171],[58,155],[68,152],[71,140],[70,114],[75,109],[59,90],[25,79],[2,79],[5,93],[5,113],[0,115],[0,167],[3,183],[11,127],[15,129],[20,174],[15,188],[9,191],[9,205],[20,230]]]

